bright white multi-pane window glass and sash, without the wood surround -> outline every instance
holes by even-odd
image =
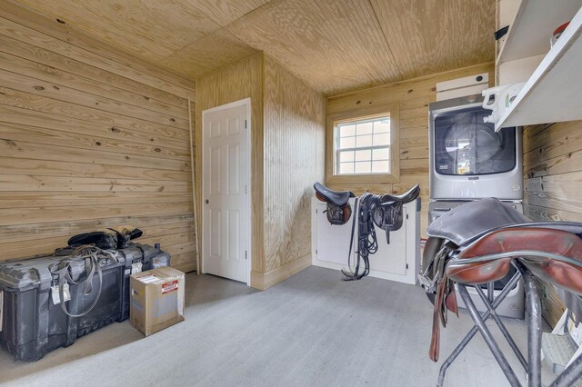
[[[389,172],[389,116],[336,125],[336,174]]]

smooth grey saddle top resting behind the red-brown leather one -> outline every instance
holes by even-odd
[[[526,216],[494,197],[469,202],[439,216],[426,234],[462,246],[487,231],[510,224],[531,222]]]

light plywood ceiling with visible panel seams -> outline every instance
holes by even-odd
[[[495,52],[493,0],[15,1],[190,78],[262,50],[325,94]]]

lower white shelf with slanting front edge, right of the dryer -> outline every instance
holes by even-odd
[[[555,4],[544,0],[527,1],[528,4],[532,2]],[[528,13],[524,10],[521,17]],[[537,66],[506,114],[501,116],[496,124],[496,131],[509,126],[582,119],[582,93],[579,89],[582,84],[581,34],[582,9],[577,11],[564,34]]]

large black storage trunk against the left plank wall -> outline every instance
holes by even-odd
[[[66,256],[41,256],[0,263],[0,292],[4,299],[0,344],[16,359],[36,361],[47,352],[68,346],[89,332],[129,317],[129,278],[132,273],[168,266],[170,256],[146,244],[132,243],[115,253],[116,259],[101,261],[102,286],[95,307],[80,317],[67,315],[59,301],[58,276],[49,266]],[[85,263],[73,261],[73,281],[85,277]],[[85,294],[81,284],[68,284],[70,314],[83,314],[95,301],[99,275],[92,279],[93,291]]]

